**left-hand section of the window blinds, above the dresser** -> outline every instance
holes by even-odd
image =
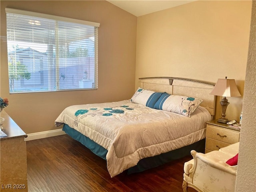
[[[10,92],[50,90],[48,44],[54,20],[12,13],[6,19]]]

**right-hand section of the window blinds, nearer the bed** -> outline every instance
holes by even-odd
[[[80,88],[94,88],[94,34],[94,26],[58,22],[60,89],[68,89],[74,82]]]

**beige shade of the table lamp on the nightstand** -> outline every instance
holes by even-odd
[[[210,94],[223,97],[241,96],[237,89],[236,82],[234,79],[218,79]]]

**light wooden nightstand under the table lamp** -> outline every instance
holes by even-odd
[[[219,150],[222,147],[236,143],[240,138],[240,129],[230,127],[226,123],[218,123],[218,120],[206,122],[205,153]]]

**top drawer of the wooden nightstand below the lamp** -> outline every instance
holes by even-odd
[[[218,126],[208,124],[206,129],[206,137],[233,144],[239,141],[240,132],[225,128],[218,128]]]

